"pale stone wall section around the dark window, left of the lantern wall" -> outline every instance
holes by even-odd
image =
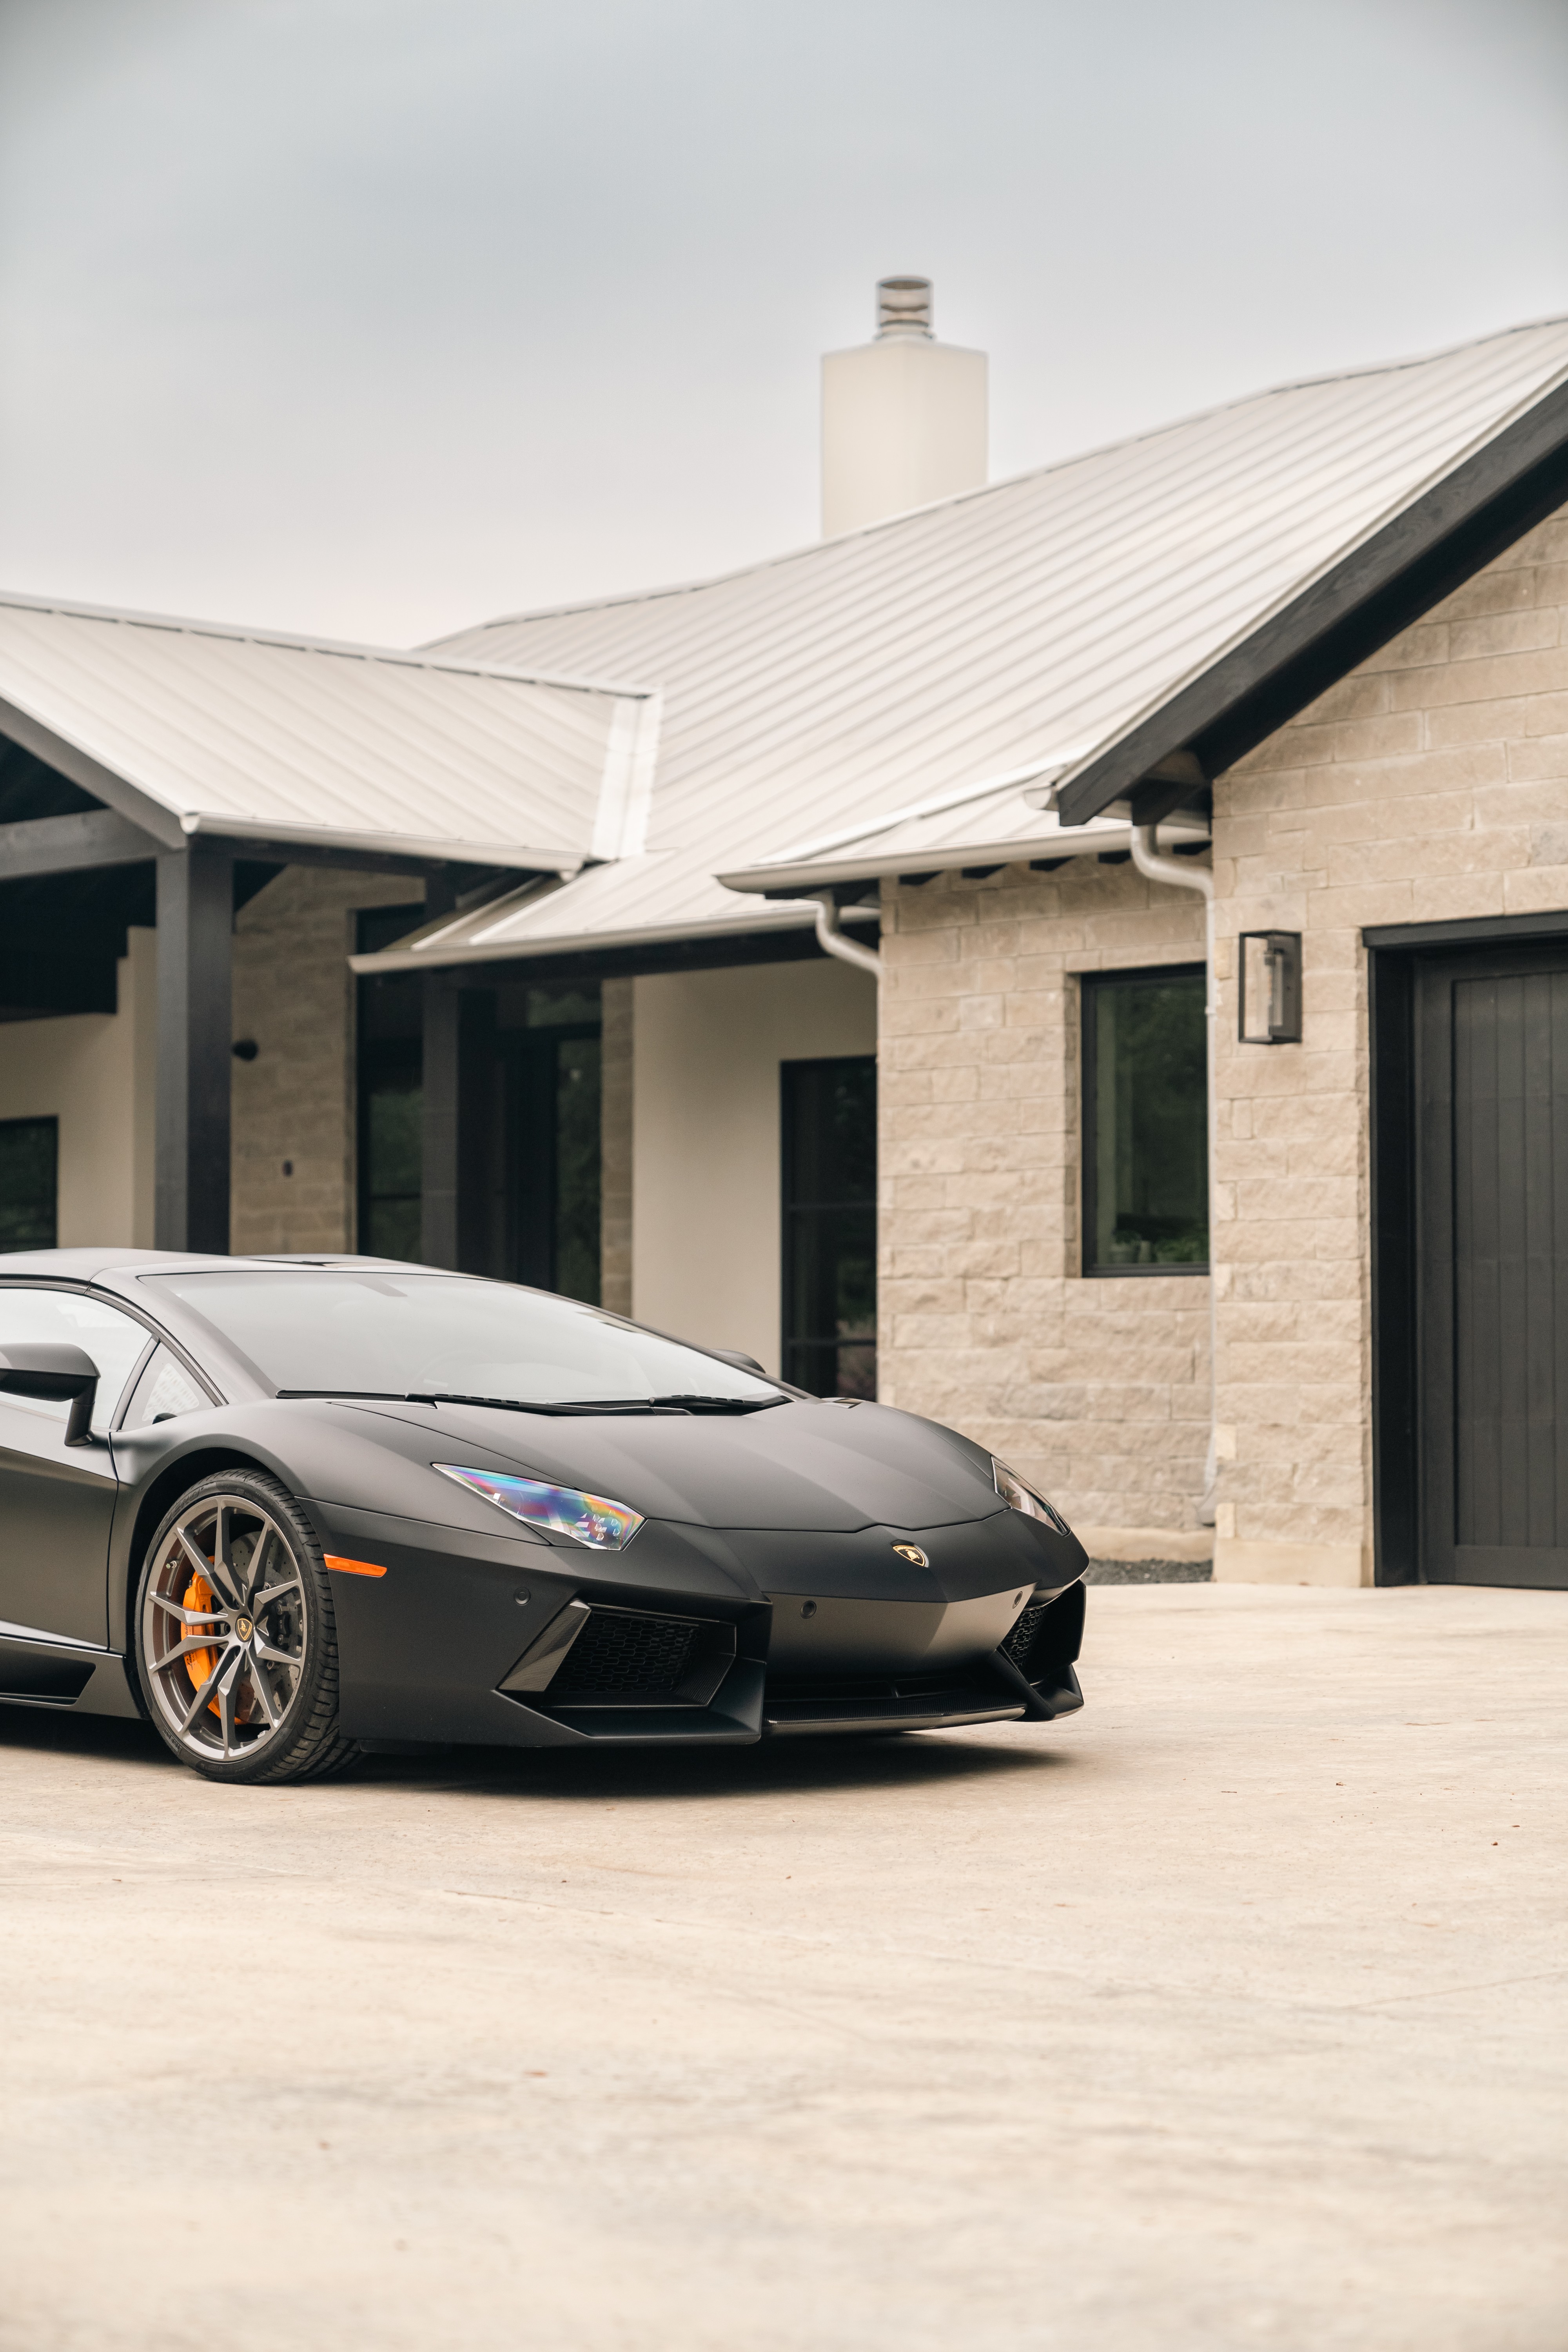
[[[1204,1550],[1208,1282],[1081,1279],[1077,1115],[1077,974],[1201,960],[1201,901],[1098,858],[889,882],[882,955],[884,1402],[992,1446],[1095,1550]]]

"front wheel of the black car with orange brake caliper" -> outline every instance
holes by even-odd
[[[132,1656],[165,1745],[207,1780],[275,1788],[360,1757],[339,1731],[322,1548],[263,1470],[205,1477],[167,1512],[136,1578]]]

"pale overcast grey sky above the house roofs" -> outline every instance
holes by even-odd
[[[1568,0],[0,0],[0,586],[414,642],[1568,310]]]

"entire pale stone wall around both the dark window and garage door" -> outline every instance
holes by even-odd
[[[1542,908],[1568,908],[1568,513],[1215,786],[1218,1576],[1373,1571],[1361,929]],[[1300,1047],[1237,1042],[1260,929],[1302,934]],[[1077,1272],[1074,974],[1187,955],[1199,901],[1128,866],[884,887],[882,1395],[1121,1557],[1194,1541],[1208,1284]]]

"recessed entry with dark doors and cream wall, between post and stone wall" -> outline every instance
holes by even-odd
[[[451,929],[355,957],[360,1247],[875,1395],[875,978],[809,917],[425,962]]]

